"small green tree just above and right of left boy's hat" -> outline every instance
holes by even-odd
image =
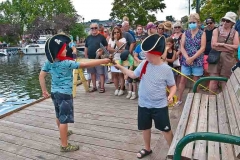
[[[85,38],[87,36],[87,34],[84,31],[83,24],[80,23],[72,25],[69,33],[74,37],[75,40],[77,36],[79,36],[79,38]]]

